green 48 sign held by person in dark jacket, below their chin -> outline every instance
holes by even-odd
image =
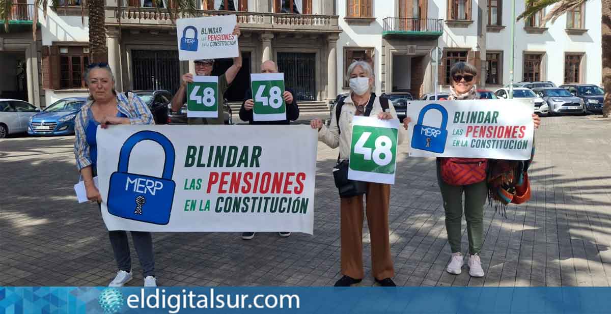
[[[251,74],[253,121],[287,120],[287,104],[284,93],[284,73]]]

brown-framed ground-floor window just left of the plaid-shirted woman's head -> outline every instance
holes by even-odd
[[[84,47],[61,47],[59,56],[60,89],[82,89],[85,82],[82,73],[89,65],[89,56],[83,53]]]

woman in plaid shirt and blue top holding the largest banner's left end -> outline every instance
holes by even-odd
[[[89,87],[89,101],[82,106],[75,119],[75,156],[76,166],[81,172],[82,180],[90,201],[102,201],[100,191],[93,184],[97,174],[97,144],[96,133],[98,125],[102,128],[108,125],[142,125],[155,124],[147,105],[134,93],[128,97],[117,93],[114,89],[115,80],[108,64],[91,64],[84,73],[84,79]],[[109,287],[122,287],[133,276],[131,272],[131,253],[125,231],[109,231],[114,257],[119,271]],[[144,287],[156,287],[155,261],[153,260],[153,241],[150,232],[131,232],[134,247],[144,272]]]

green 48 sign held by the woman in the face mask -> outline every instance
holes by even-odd
[[[353,118],[349,180],[395,184],[398,127],[397,120]]]

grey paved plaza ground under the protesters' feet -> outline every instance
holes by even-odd
[[[611,283],[611,120],[545,117],[529,175],[533,197],[502,217],[486,206],[481,260],[445,272],[450,248],[434,159],[399,148],[390,200],[395,282],[406,286],[604,286]],[[116,266],[97,205],[76,203],[74,137],[0,140],[0,286],[108,285]],[[329,286],[340,277],[340,224],[331,167],[318,145],[314,235],[155,233],[158,285]],[[463,222],[463,228],[465,224]],[[131,241],[130,241],[131,242]],[[370,273],[367,224],[365,279]],[[463,252],[467,235],[463,233]],[[134,280],[142,272],[132,247]]]

